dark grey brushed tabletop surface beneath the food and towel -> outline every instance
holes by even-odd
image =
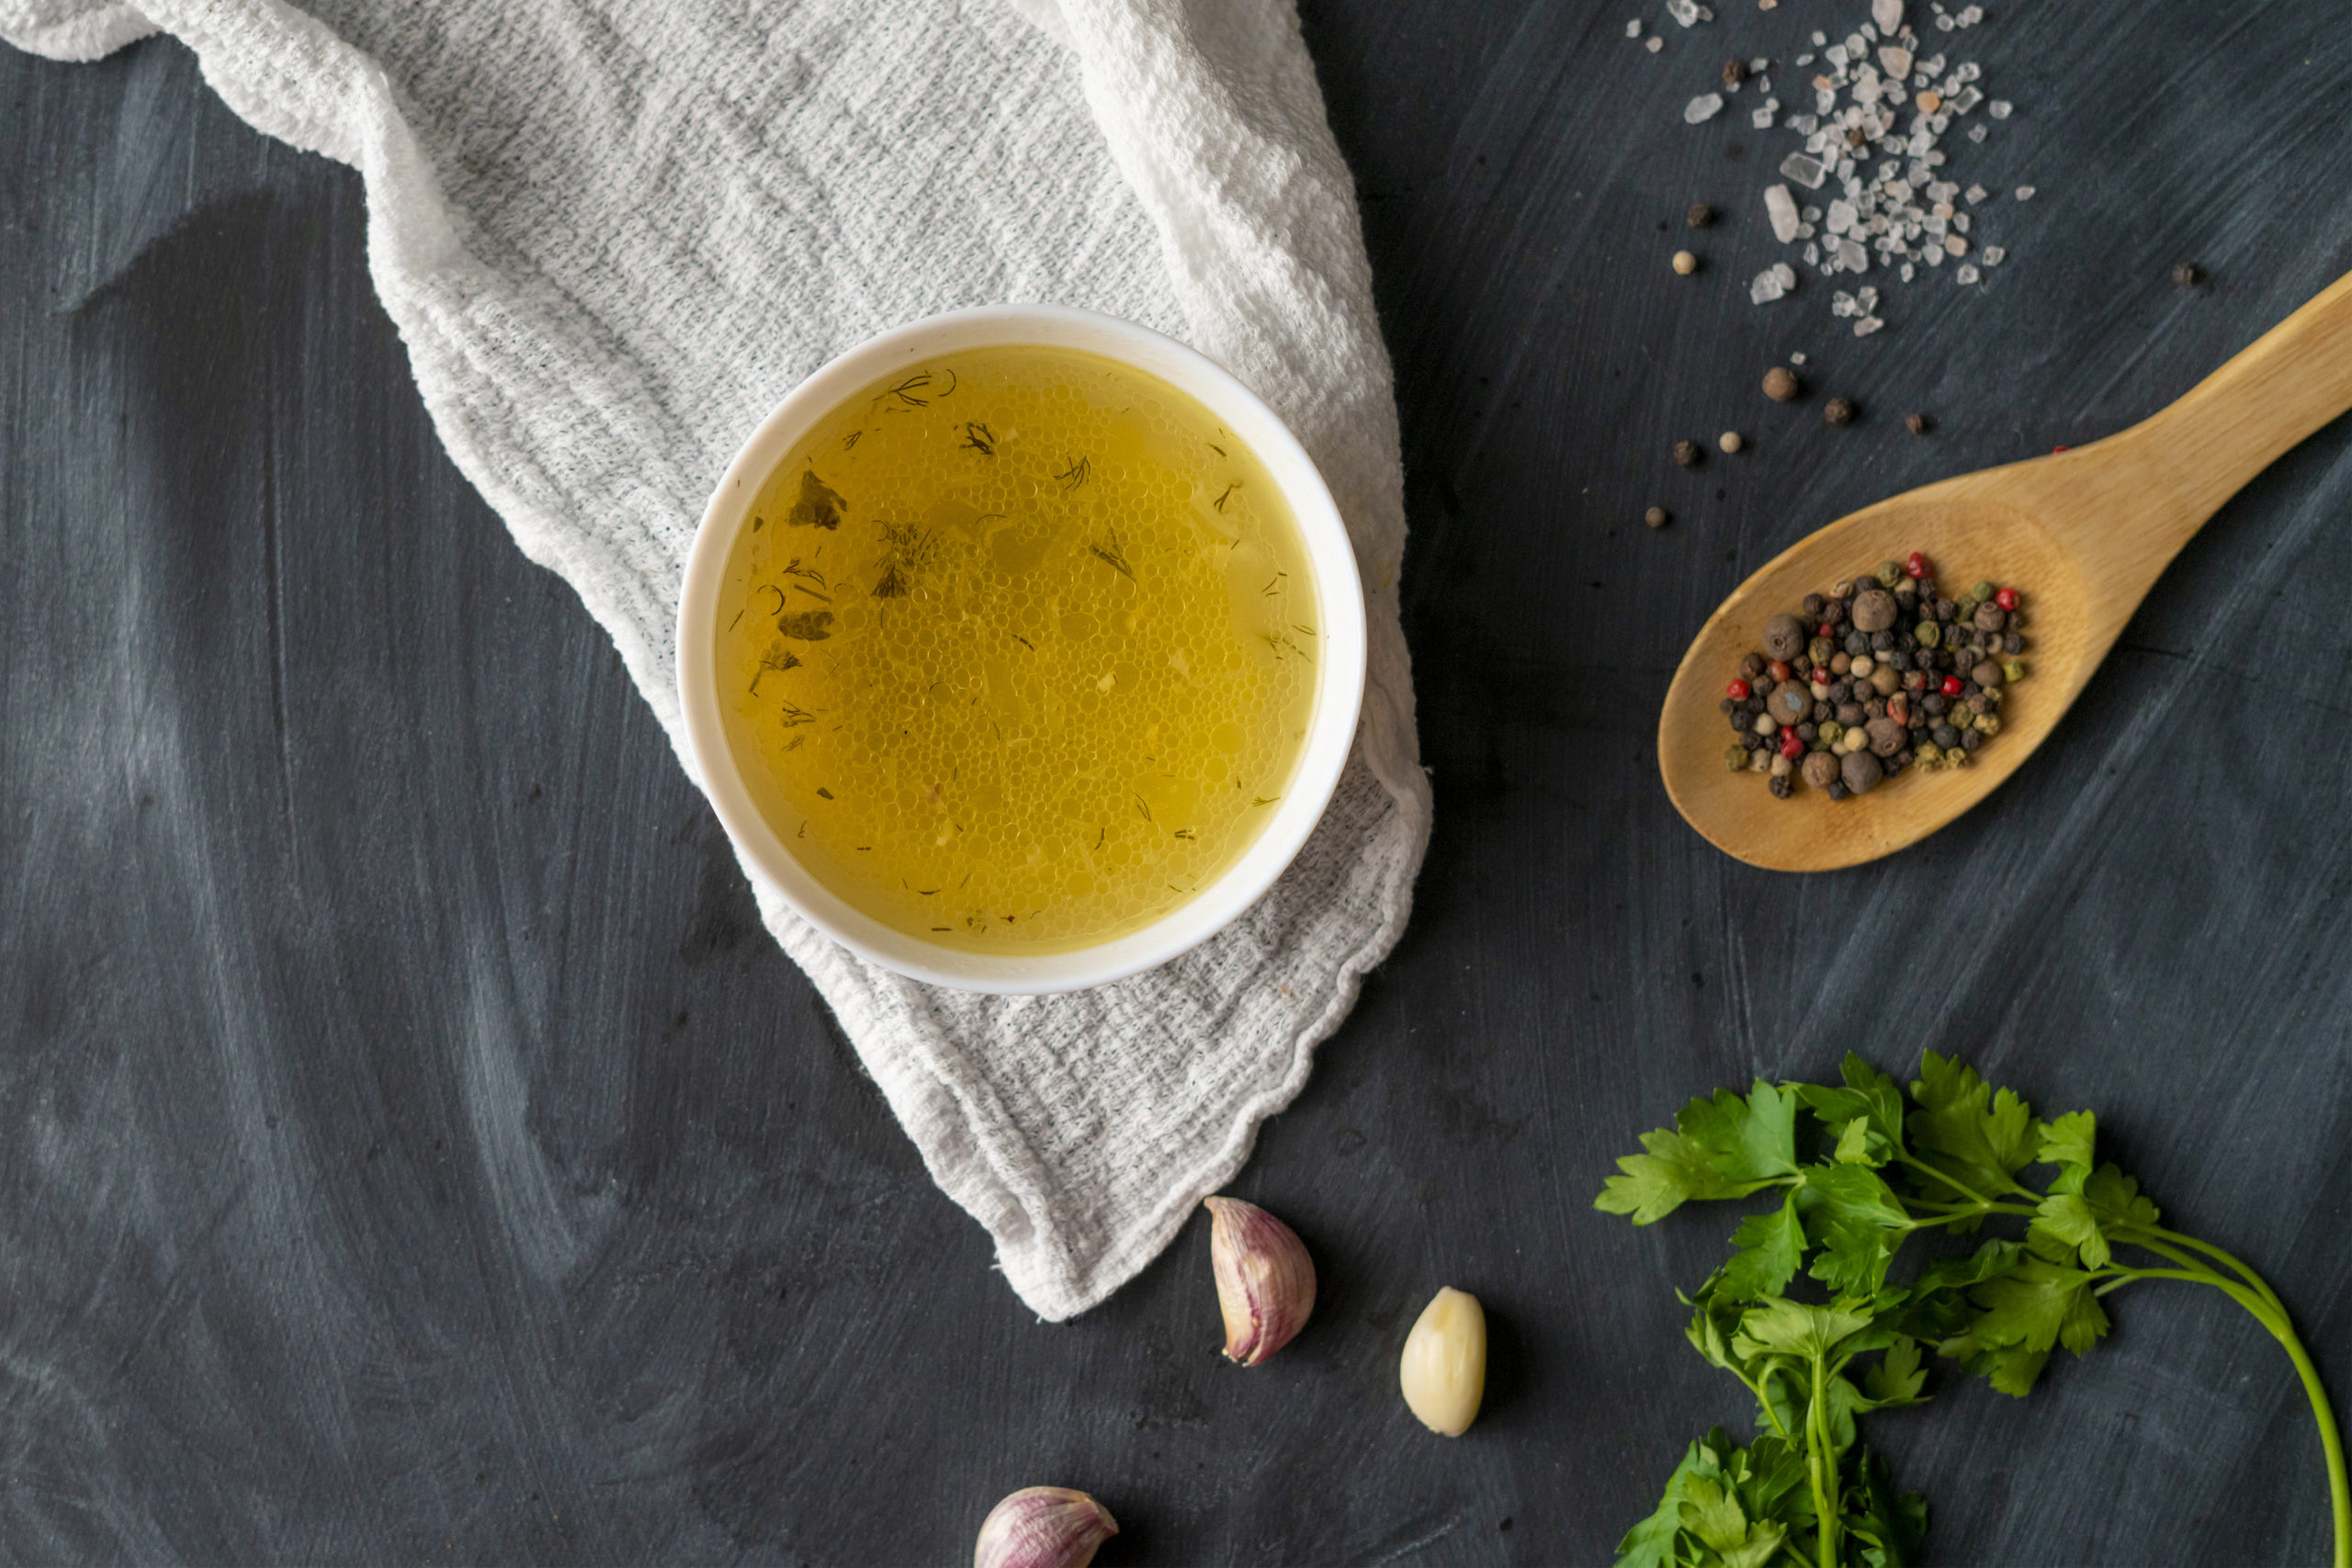
[[[1202,1225],[1061,1328],[990,1274],[597,628],[435,444],[358,179],[172,42],[0,49],[0,1554],[953,1563],[1058,1481],[1124,1521],[1103,1563],[1602,1563],[1745,1413],[1672,1295],[1731,1218],[1592,1192],[1686,1095],[1846,1048],[2096,1107],[2352,1406],[2345,423],[1905,856],[1740,867],[1651,755],[1682,642],[1780,545],[2114,430],[2352,268],[2352,31],[1997,2],[1950,42],[2020,108],[1964,167],[2042,195],[1987,287],[1856,341],[1818,282],[1745,299],[1788,139],[1679,106],[1863,7],[1715,2],[1663,56],[1623,38],[1649,0],[1303,7],[1397,357],[1439,816],[1240,1178],[1324,1279],[1247,1375]],[[1675,280],[1693,200],[1724,221]],[[1757,395],[1795,348],[1858,425]],[[1724,428],[1752,451],[1668,461]],[[1449,1281],[1496,1333],[1458,1443],[1395,1399]],[[1875,1418],[1933,1561],[2324,1559],[2277,1345],[2185,1286],[2112,1305],[2030,1401],[1938,1375]]]

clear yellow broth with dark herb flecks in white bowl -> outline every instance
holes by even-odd
[[[1065,348],[894,374],[776,465],[720,597],[753,799],[887,926],[1051,952],[1214,882],[1322,668],[1298,527],[1176,388]]]

